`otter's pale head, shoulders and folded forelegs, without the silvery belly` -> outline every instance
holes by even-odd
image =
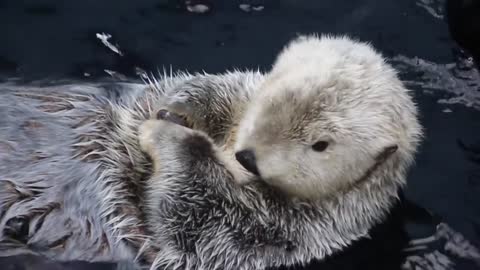
[[[422,130],[408,90],[371,46],[303,36],[257,87],[221,89],[174,89],[168,111],[139,128],[154,163],[155,265],[305,263],[365,236],[389,211]]]

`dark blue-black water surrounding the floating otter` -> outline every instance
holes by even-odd
[[[255,1],[263,10],[245,12],[239,4],[246,2],[211,1],[209,12],[195,14],[179,1],[0,0],[0,79],[90,80],[107,76],[105,69],[129,77],[137,76],[136,68],[266,70],[298,33],[349,34],[369,41],[416,90],[427,139],[405,199],[372,230],[371,239],[304,269],[400,269],[407,256],[420,266],[404,269],[480,269],[480,254],[477,258],[475,253],[480,246],[480,76],[452,39],[444,2],[272,0]],[[474,8],[466,10],[475,15]],[[476,55],[478,39],[469,41],[480,35],[469,34],[480,29],[478,20],[452,18],[453,36]],[[470,32],[458,31],[465,25]],[[109,41],[118,44],[122,56],[100,42],[96,34],[102,32],[112,36]],[[437,229],[439,223],[448,225],[448,236]],[[426,249],[402,252],[409,240],[432,234],[438,238]],[[445,244],[452,241],[462,251]],[[445,258],[452,263],[441,263]],[[38,260],[6,258],[0,265],[57,269]],[[55,267],[93,269],[76,263]]]

